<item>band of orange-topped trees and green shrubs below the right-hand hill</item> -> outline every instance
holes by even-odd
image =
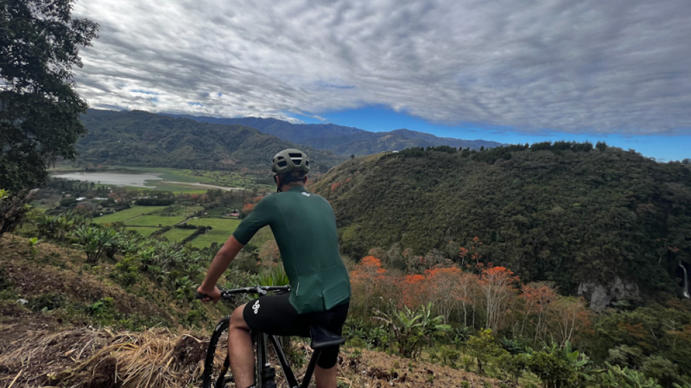
[[[536,376],[545,387],[598,386],[621,374],[665,387],[691,382],[685,372],[691,359],[688,301],[595,315],[583,300],[559,295],[553,284],[521,284],[504,267],[461,271],[435,264],[422,274],[402,275],[372,255],[353,266],[351,282],[346,332],[354,346],[413,358],[429,353],[466,369],[475,362],[477,373],[514,383]],[[424,311],[444,322],[444,331],[422,330]],[[605,375],[607,365],[627,369]]]

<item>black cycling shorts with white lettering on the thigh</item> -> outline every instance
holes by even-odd
[[[321,326],[332,333],[341,335],[345,317],[348,316],[348,303],[339,304],[319,313],[299,314],[288,298],[290,293],[266,295],[247,303],[243,318],[250,329],[263,331],[276,336],[310,337],[310,325]],[[327,347],[321,353],[317,365],[329,369],[336,365],[339,346]]]

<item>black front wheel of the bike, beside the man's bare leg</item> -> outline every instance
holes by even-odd
[[[227,383],[232,381],[228,359],[229,325],[230,317],[227,316],[218,322],[211,334],[202,373],[203,388],[227,388]]]

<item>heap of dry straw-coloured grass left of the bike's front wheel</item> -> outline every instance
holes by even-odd
[[[0,356],[0,387],[186,387],[198,380],[208,345],[167,329],[75,329],[19,341]]]

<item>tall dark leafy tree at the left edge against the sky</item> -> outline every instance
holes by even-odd
[[[86,133],[72,68],[98,26],[73,19],[73,1],[0,3],[0,188],[12,193],[44,182],[58,157],[75,157]]]

